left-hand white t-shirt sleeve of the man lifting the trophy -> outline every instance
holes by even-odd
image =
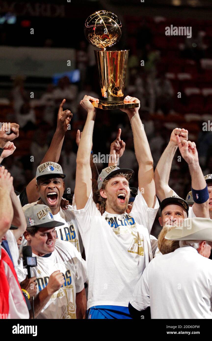
[[[86,206],[80,210],[76,209],[75,201],[73,199],[74,205],[72,205],[73,212],[79,223],[80,234],[84,234],[91,226],[91,221],[94,216],[101,215],[100,211],[97,210],[96,204],[93,201],[93,191],[88,198]]]

